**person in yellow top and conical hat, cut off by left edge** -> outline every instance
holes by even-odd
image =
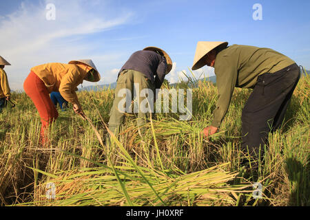
[[[8,84],[8,76],[4,71],[4,67],[10,65],[2,56],[0,56],[0,112],[6,107],[11,97],[11,90]]]

